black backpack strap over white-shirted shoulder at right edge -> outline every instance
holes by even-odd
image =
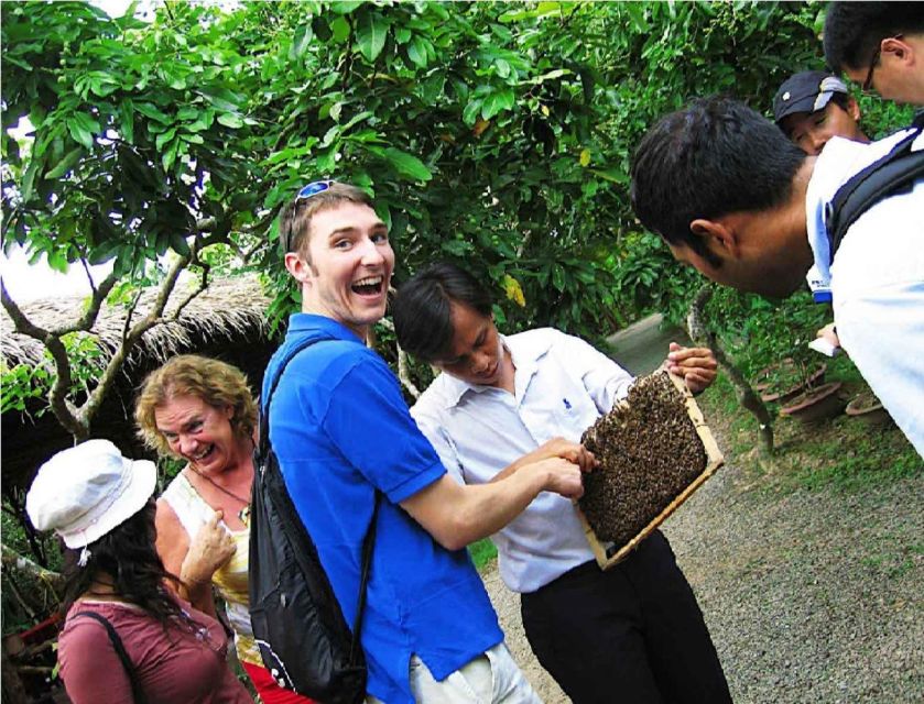
[[[830,261],[857,218],[883,198],[910,188],[924,177],[924,150],[911,151],[921,132],[921,129],[913,130],[885,156],[851,176],[825,206]]]

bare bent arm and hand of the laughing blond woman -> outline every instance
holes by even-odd
[[[215,512],[191,541],[176,512],[163,498],[157,499],[157,554],[164,569],[180,578],[180,596],[209,616],[215,616],[211,575],[235,553],[233,540],[220,520],[221,512]]]

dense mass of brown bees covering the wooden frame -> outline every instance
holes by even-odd
[[[580,509],[600,541],[635,537],[706,469],[706,450],[681,392],[664,372],[635,382],[581,443],[599,465],[584,477]]]

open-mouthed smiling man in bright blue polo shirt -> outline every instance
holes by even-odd
[[[360,588],[362,539],[382,494],[361,632],[367,702],[539,702],[503,646],[464,548],[541,492],[579,496],[579,466],[550,458],[485,486],[449,477],[398,380],[365,344],[385,312],[394,253],[362,190],[309,184],[283,208],[280,239],[302,312],[290,319],[265,378],[293,345],[317,343],[282,374],[270,440],[347,623]]]

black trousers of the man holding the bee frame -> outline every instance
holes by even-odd
[[[731,702],[703,612],[661,531],[521,595],[526,638],[575,704]]]

